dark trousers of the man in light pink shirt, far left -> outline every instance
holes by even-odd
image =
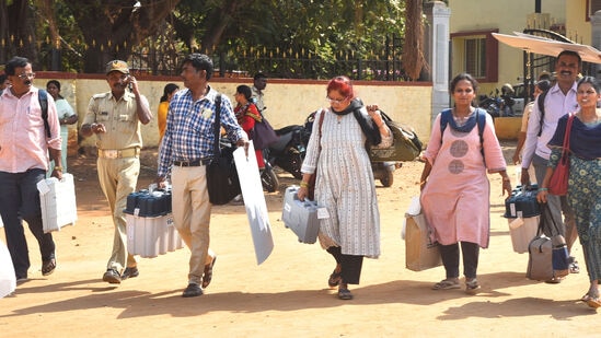
[[[39,244],[42,261],[55,258],[55,242],[51,234],[45,234],[42,228],[42,208],[37,183],[44,179],[46,172],[38,168],[24,173],[0,172],[0,214],[4,223],[7,246],[11,254],[18,277],[27,277],[30,254],[23,229],[23,220]]]

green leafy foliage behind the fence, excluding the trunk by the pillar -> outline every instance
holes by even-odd
[[[390,39],[398,40],[405,28],[405,0],[180,0],[162,16],[152,13],[163,2],[140,0],[135,14],[135,0],[51,1],[62,69],[102,72],[108,57],[134,57],[140,69],[159,73],[199,50],[213,55],[216,65],[250,73],[299,78],[363,69],[374,74],[380,65],[358,60],[381,61]],[[49,36],[47,21],[36,22],[37,35]],[[49,63],[51,46],[38,38],[39,63]]]

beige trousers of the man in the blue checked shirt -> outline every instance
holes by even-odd
[[[207,189],[206,166],[173,166],[172,209],[173,223],[190,250],[188,283],[200,284],[208,255],[211,207]]]

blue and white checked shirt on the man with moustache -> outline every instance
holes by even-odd
[[[159,152],[159,177],[166,176],[173,161],[196,161],[212,156],[217,94],[209,86],[207,95],[194,102],[189,89],[175,93],[170,102],[166,130]],[[226,95],[221,95],[220,120],[232,142],[245,138]]]

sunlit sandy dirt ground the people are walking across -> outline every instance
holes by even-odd
[[[515,150],[504,142],[506,159]],[[143,150],[139,187],[155,174],[155,149]],[[58,268],[43,277],[38,247],[27,231],[31,280],[0,300],[2,337],[599,337],[599,315],[578,300],[588,289],[582,249],[573,254],[582,272],[560,284],[525,279],[528,254],[512,250],[499,175],[492,175],[490,247],[481,252],[482,291],[432,291],[442,267],[405,268],[401,240],[404,213],[419,191],[423,163],[404,163],[394,184],[378,183],[382,255],[363,264],[352,301],[327,288],[334,261],[319,244],[298,243],[280,221],[282,191],[294,179],[281,173],[279,191],[266,194],[275,241],[271,256],[256,265],[243,206],[215,207],[213,280],[199,298],[183,299],[187,248],[140,258],[140,276],[118,287],[102,281],[113,243],[108,207],[93,158],[70,159],[79,220],[54,233]],[[509,166],[515,179],[515,166]],[[465,210],[470,212],[470,210]],[[3,232],[0,238],[4,241]]]

